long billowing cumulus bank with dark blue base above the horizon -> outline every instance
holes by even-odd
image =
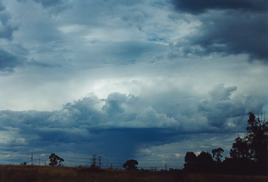
[[[91,150],[102,148],[102,152],[111,153],[110,150],[116,146],[117,152],[134,154],[141,146],[178,142],[183,139],[179,136],[186,134],[243,132],[247,112],[260,111],[263,104],[249,95],[232,97],[235,90],[235,86],[216,85],[208,92],[207,98],[192,102],[192,112],[185,113],[178,108],[169,113],[171,116],[157,112],[140,97],[121,93],[111,93],[106,99],[90,93],[65,104],[61,110],[50,112],[2,110],[0,130],[7,135],[5,138],[0,136],[0,141],[34,143],[37,146],[40,143],[90,143],[94,146]],[[132,109],[141,106],[140,102],[143,102],[142,108]],[[10,132],[16,138],[10,137]],[[199,148],[204,146],[213,147],[198,145]],[[151,149],[140,151],[151,155]],[[181,154],[175,152],[160,157],[165,156],[178,158]]]

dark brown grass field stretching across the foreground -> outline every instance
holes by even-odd
[[[117,169],[89,169],[50,166],[0,165],[2,182],[266,182],[267,176],[227,174],[196,174],[178,171],[131,171]]]

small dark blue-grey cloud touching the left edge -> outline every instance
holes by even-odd
[[[24,66],[27,59],[0,48],[0,60],[0,71],[13,72],[15,67]]]

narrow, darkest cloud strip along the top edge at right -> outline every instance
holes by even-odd
[[[266,0],[173,0],[175,8],[182,12],[200,14],[210,9],[245,9],[248,11],[268,10]]]

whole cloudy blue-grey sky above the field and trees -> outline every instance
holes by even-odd
[[[268,110],[266,0],[1,0],[0,143],[184,160]]]

